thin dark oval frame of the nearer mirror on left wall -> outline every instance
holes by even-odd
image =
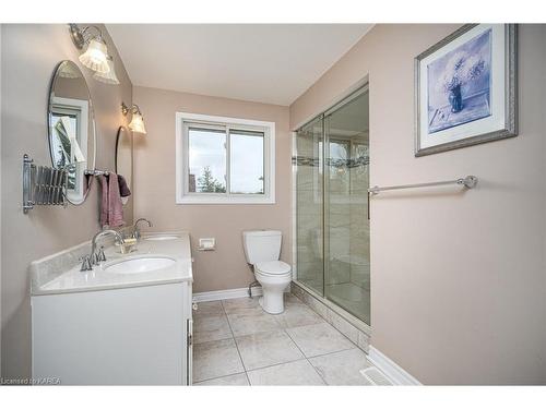
[[[52,140],[52,129],[51,129],[51,123],[50,123],[50,116],[51,116],[51,107],[52,107],[52,98],[54,98],[54,89],[55,89],[55,85],[57,84],[57,80],[59,79],[59,73],[60,73],[60,69],[61,67],[64,64],[64,63],[69,63],[71,64],[75,70],[78,70],[78,72],[80,72],[80,74],[82,75],[82,80],[83,82],[85,83],[85,87],[87,89],[87,100],[88,100],[88,111],[90,111],[90,116],[91,116],[91,122],[92,122],[92,129],[93,129],[93,135],[91,136],[93,139],[93,157],[92,157],[92,161],[87,161],[87,169],[92,169],[94,170],[95,169],[95,165],[96,165],[96,155],[97,155],[97,130],[96,130],[96,123],[95,123],[95,109],[94,109],[94,106],[93,106],[93,100],[91,98],[91,92],[90,92],[90,85],[87,84],[87,81],[85,80],[85,76],[82,72],[82,70],[80,69],[80,67],[71,61],[71,60],[62,60],[62,61],[59,61],[57,63],[57,65],[55,67],[54,69],[54,74],[51,75],[51,80],[49,82],[49,91],[48,91],[48,96],[47,96],[47,112],[46,112],[46,123],[47,123],[47,143],[48,143],[48,146],[49,146],[49,157],[51,159],[51,166],[54,168],[56,168],[56,165],[55,165],[55,160],[54,160],[54,152],[52,152],[52,145],[51,145],[51,140]],[[87,195],[91,191],[91,188],[93,187],[93,179],[95,179],[94,177],[86,177],[85,173],[83,175],[83,178],[84,178],[84,182],[86,181],[87,182],[87,188],[85,189],[84,193],[83,193],[83,197],[80,202],[75,202],[75,201],[71,201],[67,194],[67,188],[64,188],[64,191],[63,191],[63,195],[64,197],[67,199],[68,202],[70,202],[71,204],[73,205],[81,205],[85,202],[85,200],[87,199]]]

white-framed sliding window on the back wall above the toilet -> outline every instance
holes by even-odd
[[[176,115],[177,203],[275,203],[273,122]]]

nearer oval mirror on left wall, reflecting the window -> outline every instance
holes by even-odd
[[[80,68],[72,61],[61,61],[49,88],[49,153],[56,169],[68,173],[64,195],[72,204],[85,201],[95,169],[95,119],[90,89]]]

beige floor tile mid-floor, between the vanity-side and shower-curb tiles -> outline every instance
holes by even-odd
[[[302,359],[304,354],[282,329],[235,339],[247,371]]]

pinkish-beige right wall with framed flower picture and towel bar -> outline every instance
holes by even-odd
[[[520,135],[414,157],[414,57],[456,25],[377,25],[290,106],[369,75],[370,184],[479,178],[371,201],[371,345],[426,384],[546,383],[546,25],[521,25]]]

